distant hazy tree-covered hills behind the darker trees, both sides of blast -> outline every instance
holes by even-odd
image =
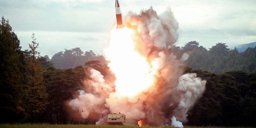
[[[216,43],[207,50],[196,41],[190,41],[182,47],[174,47],[178,57],[184,52],[190,54],[187,66],[193,69],[206,70],[215,74],[239,70],[246,73],[256,73],[256,47],[247,48],[244,52],[238,52],[236,48],[230,50],[225,43]],[[48,58],[48,56],[45,56]],[[94,54],[92,50],[82,52],[80,48],[58,52],[49,59],[55,68],[65,69],[82,66],[90,60],[99,60],[106,64],[102,55]]]

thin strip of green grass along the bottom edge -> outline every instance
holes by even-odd
[[[81,125],[81,124],[0,124],[0,128],[174,128],[172,126],[121,126],[121,125]],[[184,126],[184,128],[204,128]],[[213,127],[205,128],[248,128],[248,127]]]

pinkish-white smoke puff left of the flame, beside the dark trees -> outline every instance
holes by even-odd
[[[103,75],[99,71],[91,69],[91,80],[87,80],[88,92],[78,90],[79,97],[69,102],[73,110],[78,110],[82,118],[88,118],[89,114],[95,112],[100,117],[107,115],[110,111],[104,106],[106,98],[114,91],[112,86],[105,83]]]

